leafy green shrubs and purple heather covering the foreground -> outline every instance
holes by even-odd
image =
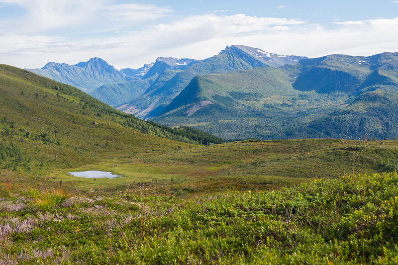
[[[70,198],[46,213],[29,206],[28,192],[22,197],[5,187],[0,194],[2,261],[398,263],[396,172],[195,200],[129,194]]]

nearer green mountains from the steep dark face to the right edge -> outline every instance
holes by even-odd
[[[362,139],[366,130],[379,139],[391,137],[395,129],[383,125],[385,129],[379,130],[383,126],[374,119],[381,124],[394,120],[395,107],[374,105],[364,98],[371,95],[369,91],[376,91],[383,94],[380,100],[395,104],[397,65],[398,53],[329,55],[280,68],[197,76],[153,121],[169,126],[189,124],[226,139]],[[353,114],[357,100],[364,102],[366,111]],[[350,102],[353,105],[347,106]],[[367,121],[358,125],[361,115],[367,115]],[[367,129],[358,128],[364,124]]]

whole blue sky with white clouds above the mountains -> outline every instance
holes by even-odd
[[[233,44],[310,58],[398,51],[398,0],[0,0],[0,63],[19,68],[100,57],[137,69]]]

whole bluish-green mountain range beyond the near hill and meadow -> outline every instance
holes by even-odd
[[[397,136],[396,52],[309,59],[232,45],[205,60],[160,57],[139,71],[115,70],[104,61],[104,69],[94,70],[92,61],[100,59],[71,69],[84,69],[87,77],[104,73],[102,82],[117,73],[120,81],[90,94],[169,126],[189,125],[224,139]],[[58,65],[67,68],[49,63],[42,71]]]

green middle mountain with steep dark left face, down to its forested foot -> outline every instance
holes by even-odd
[[[194,126],[224,139],[291,138],[290,131],[348,99],[346,93],[294,89],[289,76],[295,71],[259,67],[198,76],[153,121]]]

